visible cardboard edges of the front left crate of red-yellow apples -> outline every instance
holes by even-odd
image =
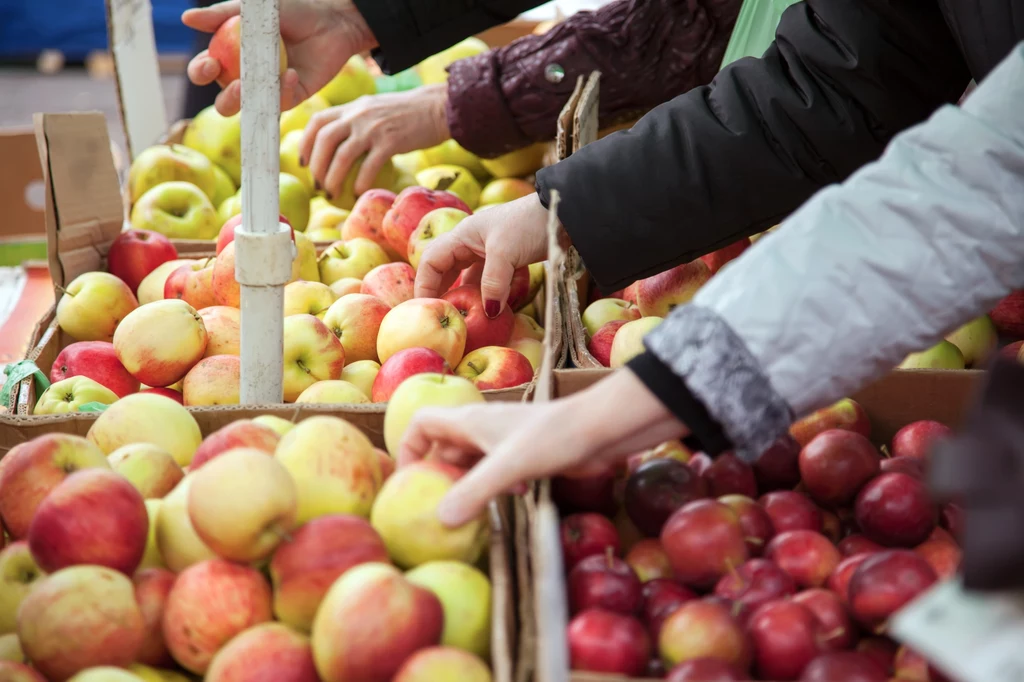
[[[376,409],[353,407],[339,410],[329,406],[247,406],[197,408],[189,412],[199,423],[203,436],[239,419],[274,415],[291,422],[307,417],[330,415],[357,426],[377,447],[384,446],[384,416]],[[13,446],[47,433],[71,433],[84,436],[98,414],[55,415],[23,419],[0,415],[0,459]],[[518,601],[515,578],[517,546],[513,519],[518,500],[502,498],[489,506],[490,544],[487,571],[492,583],[492,655],[495,682],[512,682],[517,647],[517,623],[514,604]],[[518,547],[524,547],[519,545]]]

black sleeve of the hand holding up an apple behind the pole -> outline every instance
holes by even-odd
[[[354,0],[379,47],[385,74],[419,63],[460,40],[511,22],[544,0]]]

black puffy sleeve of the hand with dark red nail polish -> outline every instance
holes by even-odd
[[[538,172],[605,291],[776,224],[955,102],[970,74],[936,2],[807,0],[761,59]]]

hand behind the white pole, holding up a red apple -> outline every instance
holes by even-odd
[[[226,0],[189,9],[181,20],[196,31],[214,33],[241,8],[241,0]],[[308,99],[338,75],[349,57],[377,45],[351,0],[281,0],[281,38],[289,65],[281,81],[282,111]],[[220,63],[207,50],[188,62],[188,79],[196,85],[213,83],[219,75]],[[232,81],[217,94],[222,116],[237,114],[241,105],[241,81]]]

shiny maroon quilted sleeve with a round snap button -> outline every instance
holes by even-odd
[[[552,139],[579,76],[601,72],[600,125],[642,113],[718,73],[740,0],[617,0],[449,68],[447,119],[493,158]]]

